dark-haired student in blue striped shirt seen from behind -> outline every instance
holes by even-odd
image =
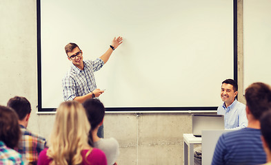
[[[260,118],[271,108],[271,88],[253,83],[245,89],[248,127],[223,133],[217,142],[212,164],[264,164],[266,155],[261,142]]]

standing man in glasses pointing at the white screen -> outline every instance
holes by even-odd
[[[65,47],[68,60],[72,65],[62,80],[64,100],[76,100],[83,103],[88,98],[97,98],[103,90],[97,89],[94,72],[98,71],[108,61],[112,52],[122,43],[122,37],[114,37],[112,45],[105,54],[95,61],[83,61],[83,51],[76,43],[68,43]],[[103,137],[103,125],[98,136]]]

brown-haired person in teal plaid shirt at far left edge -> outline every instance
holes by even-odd
[[[17,114],[0,105],[0,164],[24,164],[21,155],[13,150],[20,137]]]

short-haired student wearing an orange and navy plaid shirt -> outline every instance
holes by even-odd
[[[8,107],[14,109],[19,116],[22,136],[16,150],[21,153],[23,160],[28,164],[37,164],[39,153],[46,147],[46,140],[26,129],[31,113],[30,102],[26,98],[15,96],[8,100]]]

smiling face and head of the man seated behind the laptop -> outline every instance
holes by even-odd
[[[238,85],[235,80],[224,80],[221,85],[221,100],[225,102],[226,105],[232,104],[237,96],[237,91]]]

